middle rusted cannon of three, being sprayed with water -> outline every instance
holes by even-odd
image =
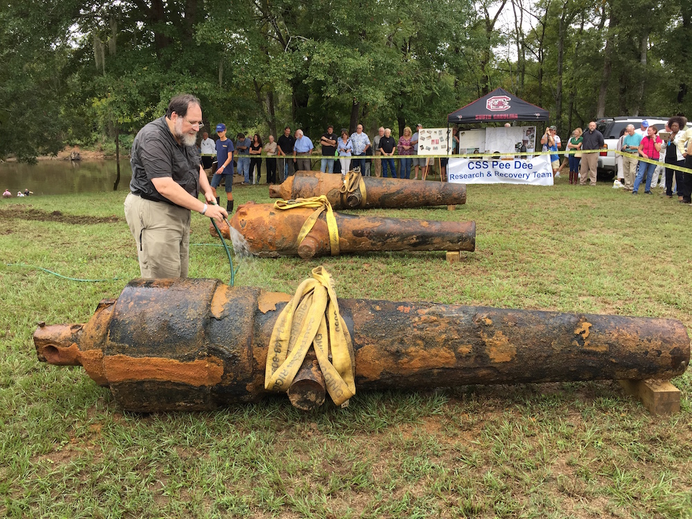
[[[260,257],[297,255],[307,259],[336,255],[325,213],[298,242],[302,226],[313,212],[311,208],[277,210],[271,203],[248,202],[238,208],[230,225],[246,239],[250,253]],[[475,250],[473,221],[365,217],[339,212],[334,216],[338,228],[338,253]],[[220,224],[219,230],[224,238],[230,238],[228,224]],[[212,236],[217,236],[212,224],[209,231]]]

